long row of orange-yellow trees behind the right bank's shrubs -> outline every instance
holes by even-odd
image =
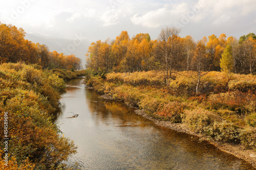
[[[134,72],[162,70],[166,80],[175,71],[225,71],[236,74],[255,74],[256,36],[240,39],[210,35],[195,41],[191,36],[180,37],[180,29],[166,27],[158,39],[148,33],[130,38],[122,31],[116,39],[91,43],[86,55],[88,68],[103,72]]]

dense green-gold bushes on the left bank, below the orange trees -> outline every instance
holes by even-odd
[[[9,159],[15,167],[25,163],[28,169],[58,169],[76,152],[74,143],[59,135],[52,120],[65,82],[37,68],[22,63],[0,65],[0,130],[8,112]]]

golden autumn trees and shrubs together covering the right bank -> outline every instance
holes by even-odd
[[[255,34],[195,41],[180,31],[164,28],[157,40],[122,31],[115,40],[93,42],[86,85],[202,140],[256,151]]]

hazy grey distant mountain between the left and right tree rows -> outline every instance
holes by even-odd
[[[74,54],[76,57],[82,60],[82,66],[86,64],[86,53],[91,42],[85,39],[81,39],[78,35],[76,38],[65,39],[57,37],[48,37],[36,33],[26,34],[25,39],[32,41],[34,43],[39,42],[40,44],[45,44],[49,47],[49,51],[57,51],[58,53],[63,53],[65,55]]]

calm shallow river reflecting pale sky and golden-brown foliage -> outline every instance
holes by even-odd
[[[56,123],[74,140],[68,164],[82,169],[254,169],[197,137],[154,125],[122,102],[85,89],[82,78],[67,83]],[[76,118],[71,117],[79,114]]]

